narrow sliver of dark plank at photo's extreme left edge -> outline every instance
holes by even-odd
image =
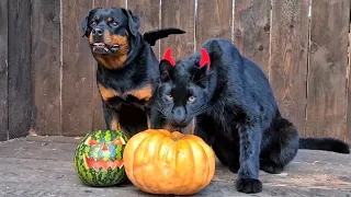
[[[9,139],[8,130],[8,0],[0,1],[0,141]]]

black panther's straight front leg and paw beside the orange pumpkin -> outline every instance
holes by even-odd
[[[262,183],[259,181],[261,128],[256,124],[237,125],[240,138],[240,169],[236,187],[247,194],[260,193]]]

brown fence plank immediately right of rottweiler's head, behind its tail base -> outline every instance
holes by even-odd
[[[159,12],[160,0],[138,0],[128,1],[128,9],[140,16],[139,32],[143,34],[146,31],[159,28]],[[159,42],[152,46],[156,57],[159,57]]]

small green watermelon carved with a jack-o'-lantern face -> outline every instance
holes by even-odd
[[[89,186],[112,186],[124,182],[123,151],[127,137],[122,131],[99,130],[88,134],[75,153],[75,169]]]

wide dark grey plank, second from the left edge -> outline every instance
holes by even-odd
[[[26,136],[33,118],[31,9],[31,1],[9,1],[10,139]]]

